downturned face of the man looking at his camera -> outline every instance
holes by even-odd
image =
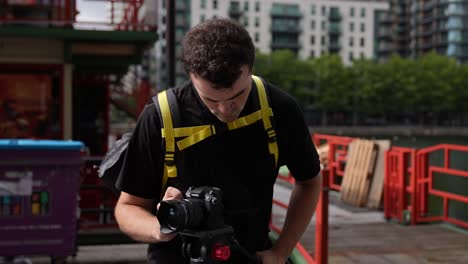
[[[247,65],[241,67],[242,73],[231,87],[215,88],[213,83],[190,73],[190,79],[203,103],[219,120],[228,123],[239,117],[244,109],[250,90],[252,77]]]

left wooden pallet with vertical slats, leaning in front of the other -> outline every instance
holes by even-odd
[[[371,140],[356,139],[351,142],[341,183],[343,202],[355,206],[367,204],[376,150]]]

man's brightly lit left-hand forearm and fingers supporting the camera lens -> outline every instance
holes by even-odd
[[[181,199],[182,193],[169,187],[163,200]],[[115,218],[120,230],[132,239],[145,243],[169,241],[176,234],[162,234],[158,218],[151,214],[153,201],[121,192],[115,207]]]

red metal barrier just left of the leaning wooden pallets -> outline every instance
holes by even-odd
[[[355,138],[352,137],[341,137],[341,136],[332,136],[325,134],[314,134],[312,140],[316,146],[322,144],[328,144],[328,165],[327,169],[329,171],[329,183],[328,186],[332,190],[340,191],[341,180],[338,180],[339,177],[344,175],[344,165],[346,161],[346,156],[348,155],[349,143]]]

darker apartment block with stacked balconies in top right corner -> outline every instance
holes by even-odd
[[[468,61],[468,0],[392,0],[379,17],[379,57],[427,52]]]

